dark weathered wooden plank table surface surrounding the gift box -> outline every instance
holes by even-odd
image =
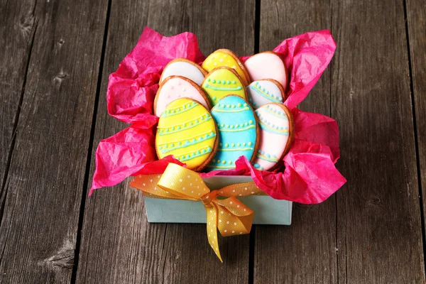
[[[1,283],[425,283],[424,0],[1,0]],[[122,182],[87,197],[94,149],[124,129],[108,75],[144,26],[208,55],[329,29],[337,51],[300,105],[337,119],[348,182],[291,226],[222,240],[148,224]]]

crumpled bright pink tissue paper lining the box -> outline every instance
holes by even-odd
[[[283,171],[256,170],[246,158],[240,157],[235,169],[202,173],[202,176],[251,175],[256,185],[271,197],[304,204],[323,202],[342,187],[346,180],[334,166],[339,158],[336,121],[296,108],[324,72],[335,48],[329,31],[316,31],[288,38],[274,49],[283,55],[290,72],[285,105],[291,109],[295,121],[295,140],[283,158]],[[174,58],[197,63],[205,59],[195,35],[180,33],[168,38],[145,28],[136,47],[109,76],[108,112],[131,126],[99,143],[89,195],[131,175],[163,173],[168,163],[182,165],[171,155],[158,160],[155,154],[158,117],[153,115],[153,101],[161,72]]]

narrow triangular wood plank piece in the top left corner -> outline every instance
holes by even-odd
[[[35,31],[35,1],[0,2],[0,204]],[[1,218],[1,210],[0,210]]]

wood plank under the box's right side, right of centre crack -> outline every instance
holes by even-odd
[[[260,51],[285,38],[331,28],[329,1],[261,1]],[[330,115],[330,68],[300,104]],[[295,204],[291,226],[257,226],[254,283],[337,283],[335,198]]]

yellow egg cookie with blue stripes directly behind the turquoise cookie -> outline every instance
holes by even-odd
[[[219,67],[207,74],[201,85],[209,97],[212,106],[228,94],[235,94],[246,99],[246,87],[241,82],[241,77],[229,67]]]

